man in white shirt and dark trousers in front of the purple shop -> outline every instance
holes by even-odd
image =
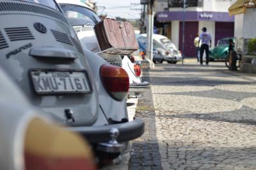
[[[202,29],[203,33],[200,34],[199,40],[201,41],[201,47],[200,47],[200,64],[203,65],[203,55],[204,51],[206,54],[206,65],[209,63],[209,47],[212,46],[212,36],[207,33],[206,27],[203,27]]]

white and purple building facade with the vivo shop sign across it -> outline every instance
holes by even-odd
[[[212,35],[212,47],[218,40],[234,36],[234,16],[228,15],[230,0],[158,0],[156,22],[160,34],[168,36],[182,50],[182,21],[184,19],[184,55],[195,57],[194,39],[202,27]]]

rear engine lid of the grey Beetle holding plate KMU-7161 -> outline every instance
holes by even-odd
[[[1,1],[0,7],[1,68],[31,104],[55,120],[92,125],[98,108],[95,82],[63,13],[58,7],[24,1]]]

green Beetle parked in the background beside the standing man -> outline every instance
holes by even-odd
[[[214,49],[209,50],[209,58],[210,61],[214,60],[225,60],[228,56],[228,40],[233,39],[233,42],[235,42],[235,38],[228,37],[228,38],[222,38],[218,40],[218,43]]]

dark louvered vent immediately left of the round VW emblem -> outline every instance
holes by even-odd
[[[4,30],[11,42],[35,39],[28,27],[8,27]]]

